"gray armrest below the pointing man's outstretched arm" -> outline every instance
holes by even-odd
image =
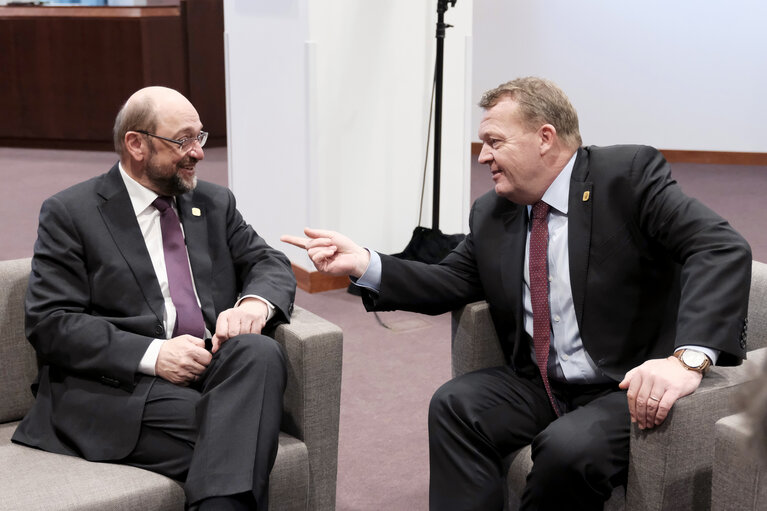
[[[506,363],[487,302],[453,311],[451,360],[453,378]]]

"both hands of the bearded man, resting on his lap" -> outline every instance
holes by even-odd
[[[237,307],[227,309],[216,320],[216,332],[211,339],[212,349],[205,349],[205,341],[192,335],[179,335],[162,344],[155,363],[155,374],[176,385],[187,386],[200,379],[221,345],[241,334],[260,334],[266,324],[269,310],[258,298],[245,298]]]

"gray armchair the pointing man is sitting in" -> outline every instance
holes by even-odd
[[[714,424],[737,409],[737,396],[767,360],[767,265],[754,261],[749,303],[748,360],[737,367],[713,367],[693,394],[674,405],[661,426],[631,432],[628,483],[616,488],[606,510],[705,510],[711,507]],[[453,376],[505,363],[487,303],[453,312]],[[689,439],[703,439],[690,449]],[[532,460],[530,446],[506,460],[506,509],[519,497]]]

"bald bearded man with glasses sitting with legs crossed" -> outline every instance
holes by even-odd
[[[46,200],[26,302],[42,366],[13,440],[185,482],[198,509],[266,509],[286,368],[287,258],[198,182],[207,133],[178,92],[117,115],[112,169]],[[207,339],[207,341],[206,341]]]

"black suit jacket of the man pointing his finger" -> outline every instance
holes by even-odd
[[[491,191],[475,202],[469,224],[439,265],[382,256],[380,294],[363,291],[365,305],[439,314],[487,300],[510,363],[532,375],[522,303],[527,208]],[[606,375],[621,380],[684,344],[721,350],[724,365],[745,356],[751,250],[682,193],[657,150],[579,149],[568,239],[581,338]]]

